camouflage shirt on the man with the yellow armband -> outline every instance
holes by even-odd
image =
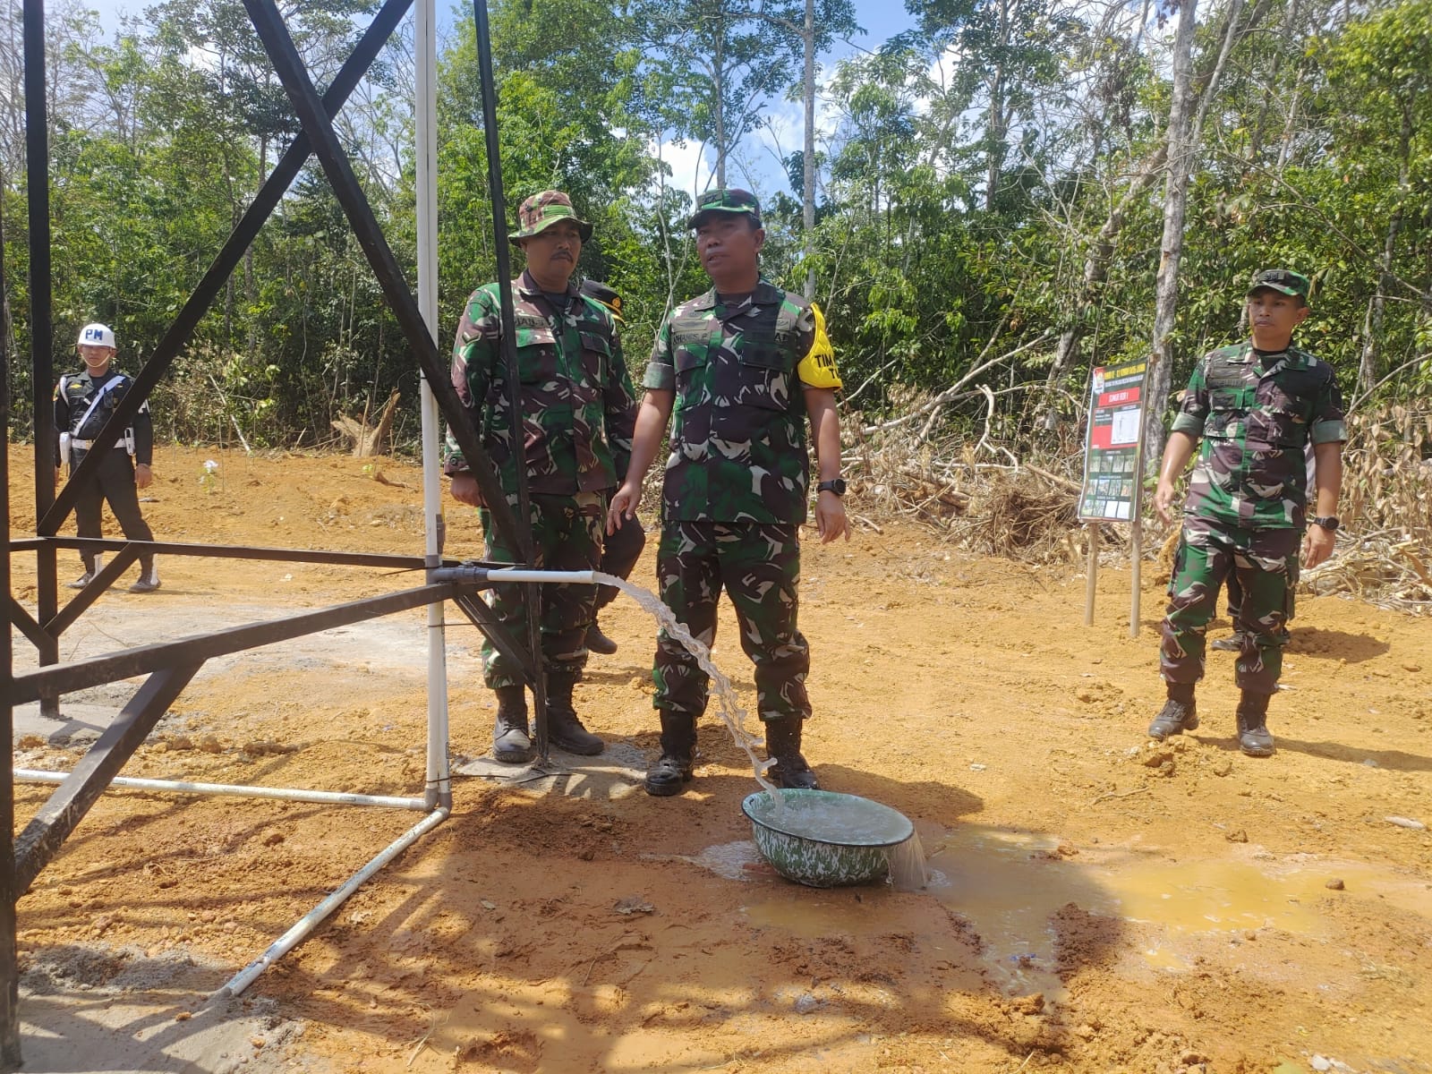
[[[813,344],[809,302],[766,281],[735,309],[712,289],[670,312],[644,381],[676,392],[663,518],[805,521],[811,463],[796,367]]]

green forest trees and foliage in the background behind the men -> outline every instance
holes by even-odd
[[[369,0],[282,6],[322,84]],[[995,362],[997,431],[1035,441],[1045,407],[1077,418],[1091,364],[1144,354],[1160,261],[1166,42],[1137,6],[908,0],[916,29],[822,72],[835,115],[818,140],[815,252],[803,253],[803,155],[758,190],[766,272],[816,271],[848,388],[866,411],[908,405]],[[1206,6],[1199,92],[1232,6]],[[110,322],[120,364],[155,347],[294,133],[291,109],[238,0],[168,0],[113,40],[57,6],[47,26],[56,362],[73,332]],[[470,14],[438,72],[438,286],[450,338],[465,296],[495,274],[497,243]],[[640,378],[672,302],[707,286],[656,146],[739,150],[770,105],[798,96],[803,3],[497,0],[491,9],[508,218],[546,188],[596,226],[580,272],[626,298]],[[1422,0],[1272,0],[1247,23],[1210,97],[1190,185],[1174,384],[1237,338],[1250,274],[1315,281],[1300,341],[1355,392],[1373,355],[1378,397],[1432,388],[1432,7]],[[853,26],[821,0],[816,44]],[[19,37],[19,3],[0,23]],[[823,53],[828,56],[828,53]],[[339,120],[374,212],[415,278],[410,52],[384,53]],[[11,387],[27,420],[27,252],[19,66],[0,62],[6,302]],[[782,189],[789,180],[789,189]],[[735,182],[735,176],[732,176]],[[520,268],[520,253],[514,251]],[[1093,271],[1091,271],[1093,269]],[[1379,298],[1380,296],[1380,298]],[[1376,316],[1373,312],[1376,311]],[[1372,338],[1369,338],[1372,334]],[[1061,341],[1065,344],[1061,347]],[[1073,342],[1073,345],[1070,345]],[[1369,344],[1372,344],[1369,347]],[[160,435],[253,444],[326,440],[338,414],[404,395],[418,378],[401,332],[322,173],[309,165],[233,274],[155,400]],[[972,387],[972,385],[971,385]],[[1363,388],[1369,387],[1366,382]],[[1041,404],[1040,400],[1053,400]],[[947,421],[982,420],[955,400]]]

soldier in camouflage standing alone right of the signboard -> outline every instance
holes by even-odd
[[[1239,748],[1254,758],[1273,755],[1267,702],[1282,670],[1299,544],[1306,567],[1332,554],[1348,438],[1332,367],[1292,345],[1309,312],[1307,292],[1307,278],[1287,269],[1253,278],[1252,339],[1199,361],[1169,435],[1154,493],[1164,521],[1171,521],[1174,483],[1200,437],[1203,447],[1161,627],[1158,663],[1169,700],[1148,726],[1160,742],[1199,726],[1194,684],[1203,677],[1204,632],[1224,577],[1236,571],[1243,591],[1234,624],[1242,646],[1234,666]],[[1307,444],[1317,493],[1305,540]]]

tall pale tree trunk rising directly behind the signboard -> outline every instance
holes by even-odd
[[[1144,458],[1163,455],[1163,414],[1173,374],[1173,329],[1179,309],[1179,262],[1183,258],[1183,215],[1189,202],[1189,172],[1196,152],[1190,137],[1189,106],[1193,96],[1193,34],[1197,0],[1179,6],[1179,30],[1173,42],[1173,102],[1169,106],[1169,178],[1164,185],[1164,232],[1158,279],[1154,285],[1154,337],[1148,369],[1148,401],[1144,411]]]

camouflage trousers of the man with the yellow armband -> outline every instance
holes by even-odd
[[[662,527],[656,557],[662,601],[707,646],[716,642],[722,587],[740,626],[740,647],[756,664],[762,720],[811,715],[805,679],[811,649],[796,629],[800,579],[799,527],[768,523],[682,523]],[[696,657],[660,632],[656,640],[657,709],[700,716],[709,676]]]

